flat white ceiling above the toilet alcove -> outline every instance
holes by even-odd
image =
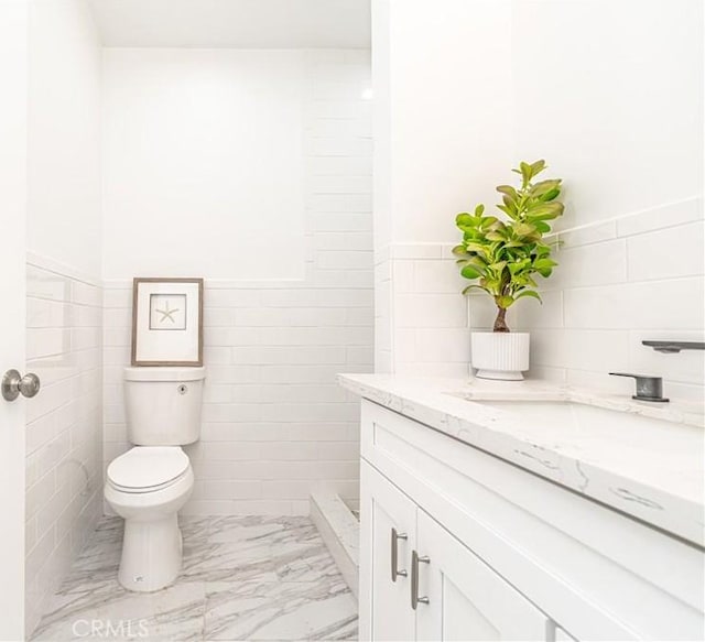
[[[105,46],[370,46],[370,0],[90,0]]]

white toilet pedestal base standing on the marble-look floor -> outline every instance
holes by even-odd
[[[118,580],[140,592],[165,588],[181,570],[182,548],[176,513],[154,521],[127,519]]]

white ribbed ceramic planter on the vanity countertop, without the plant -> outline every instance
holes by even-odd
[[[529,370],[529,333],[470,333],[470,351],[480,379],[521,381]]]

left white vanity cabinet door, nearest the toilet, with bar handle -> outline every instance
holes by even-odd
[[[409,584],[415,532],[415,504],[362,460],[360,640],[415,639]]]

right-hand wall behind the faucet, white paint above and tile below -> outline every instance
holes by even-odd
[[[641,340],[704,340],[703,3],[514,1],[512,20],[518,157],[566,181],[555,278],[519,311],[532,373],[631,394],[607,371],[644,372],[702,401],[702,352]]]

